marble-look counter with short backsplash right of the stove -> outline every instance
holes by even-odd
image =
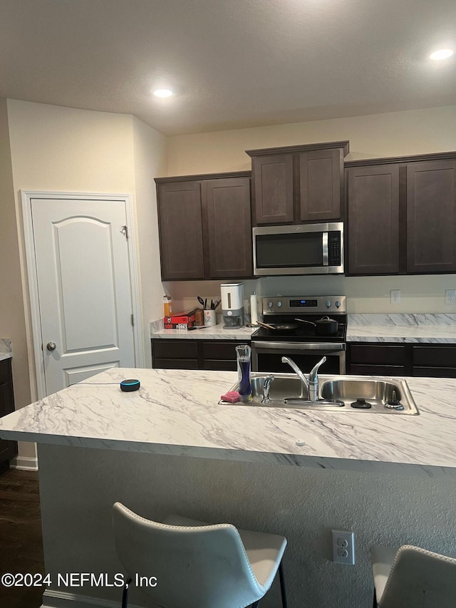
[[[347,341],[456,344],[456,314],[348,314]]]

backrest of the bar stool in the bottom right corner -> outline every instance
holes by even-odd
[[[403,545],[390,570],[380,608],[455,608],[456,559]]]

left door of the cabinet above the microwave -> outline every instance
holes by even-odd
[[[257,224],[293,222],[293,155],[252,159],[254,220]]]

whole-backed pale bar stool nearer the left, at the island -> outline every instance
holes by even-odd
[[[122,503],[113,506],[113,530],[119,560],[129,576],[122,608],[128,607],[136,576],[156,577],[156,587],[141,590],[162,608],[257,608],[277,570],[286,608],[283,536],[177,515],[154,522]]]

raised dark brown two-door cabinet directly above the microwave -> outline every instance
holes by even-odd
[[[348,141],[246,151],[252,158],[254,225],[341,218]]]

